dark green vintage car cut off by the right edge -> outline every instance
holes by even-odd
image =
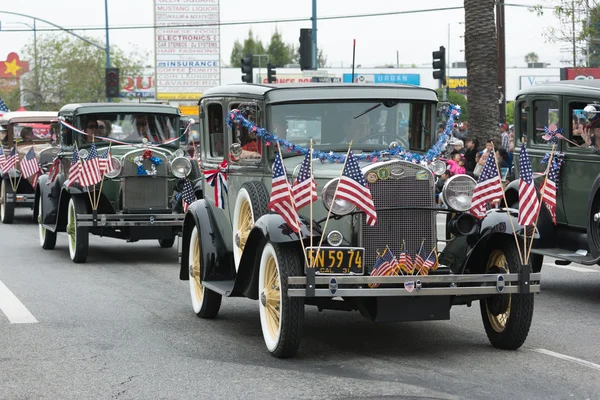
[[[515,101],[516,149],[525,142],[538,189],[547,164],[542,163],[552,145],[545,128],[556,124],[566,139],[556,151],[564,154],[556,191],[556,224],[542,206],[533,244],[533,268],[539,271],[544,256],[557,264],[600,263],[600,81],[575,80],[548,83],[521,91]],[[518,151],[515,172],[518,178]],[[509,205],[517,207],[518,179],[506,188]]]

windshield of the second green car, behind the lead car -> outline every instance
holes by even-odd
[[[93,136],[109,137],[131,143],[147,139],[162,143],[179,137],[179,117],[166,114],[86,114],[80,117],[79,128],[88,136],[79,138],[79,143],[91,143]]]

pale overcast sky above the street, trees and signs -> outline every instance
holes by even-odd
[[[552,3],[549,0],[510,0],[507,3],[533,5]],[[462,0],[390,1],[390,0],[318,0],[318,16],[372,14],[378,12],[460,7]],[[221,22],[277,20],[281,18],[309,18],[312,0],[221,0]],[[27,0],[5,1],[0,11],[29,14],[46,19],[66,28],[103,27],[103,0]],[[152,25],[154,0],[108,0],[110,26]],[[0,13],[0,60],[9,52],[21,52],[23,45],[33,39],[33,32],[6,32],[8,29],[28,29],[22,23],[31,19]],[[464,10],[436,11],[358,19],[325,20],[318,22],[318,46],[327,55],[332,67],[349,66],[352,62],[352,40],[356,39],[357,64],[364,67],[396,62],[424,65],[431,63],[431,52],[440,45],[448,47],[450,62],[464,60]],[[543,31],[556,24],[552,12],[538,17],[525,7],[506,7],[506,65],[525,66],[524,56],[536,52],[541,62],[561,66],[561,59],[569,54],[561,50],[566,44],[547,43]],[[450,25],[450,35],[448,35]],[[49,27],[38,22],[38,28]],[[252,27],[263,42],[278,29],[285,41],[298,43],[300,28],[310,28],[310,21],[233,25],[221,27],[221,59],[229,62],[233,42],[243,40]],[[104,31],[81,32],[104,43]],[[43,35],[44,33],[38,33]],[[142,51],[154,51],[153,29],[112,30],[111,45],[124,50],[136,46]],[[150,61],[152,62],[152,61]]]

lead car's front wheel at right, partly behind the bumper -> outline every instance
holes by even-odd
[[[520,272],[519,251],[511,239],[492,244],[486,273]],[[485,332],[494,347],[516,350],[525,343],[533,318],[533,293],[494,295],[479,304]]]

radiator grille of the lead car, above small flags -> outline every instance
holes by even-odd
[[[397,161],[371,168],[365,177],[369,172],[377,173],[382,168],[390,172],[389,177],[369,183],[377,210],[377,225],[368,226],[366,216],[361,215],[361,238],[367,271],[375,263],[377,251],[383,252],[386,246],[398,256],[404,240],[408,253],[414,259],[421,242],[424,241],[428,255],[437,243],[433,175],[421,166]],[[394,172],[401,174],[394,176]],[[417,175],[421,179],[417,179]],[[385,174],[382,176],[385,177]],[[391,207],[430,207],[432,210],[386,210]]]

